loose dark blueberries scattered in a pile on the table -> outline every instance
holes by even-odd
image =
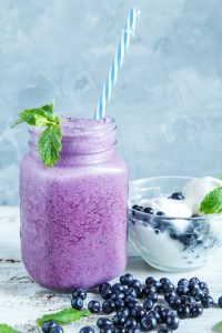
[[[157,281],[149,276],[143,285],[128,273],[120,278],[120,283],[101,284],[99,292],[104,301],[101,304],[98,300],[92,300],[88,303],[88,309],[94,314],[103,312],[109,315],[98,319],[97,326],[100,333],[140,333],[155,329],[159,333],[172,333],[179,327],[180,319],[198,317],[204,307],[214,306],[206,283],[198,278],[190,281],[181,279],[175,286],[167,278]],[[85,297],[85,290],[75,289],[72,292],[72,307],[81,310]],[[162,303],[162,299],[168,306],[158,304],[159,301]],[[219,306],[222,307],[222,296],[219,299]],[[63,332],[59,326],[46,330],[50,322],[43,324],[44,333]],[[84,326],[79,333],[94,332],[91,326]]]

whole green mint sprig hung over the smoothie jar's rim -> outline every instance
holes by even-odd
[[[62,149],[62,131],[60,119],[56,117],[54,105],[47,104],[38,109],[27,109],[19,113],[19,120],[12,125],[16,127],[26,122],[34,127],[47,127],[38,141],[38,150],[42,162],[47,167],[53,167],[59,162]]]

